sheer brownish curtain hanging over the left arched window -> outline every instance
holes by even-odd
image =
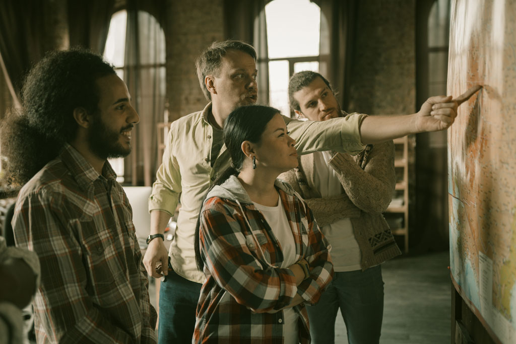
[[[157,123],[164,121],[166,103],[166,70],[159,66],[166,61],[165,13],[161,1],[127,2],[123,79],[140,116],[132,153],[124,162],[124,180],[132,185],[151,186],[157,170]]]

